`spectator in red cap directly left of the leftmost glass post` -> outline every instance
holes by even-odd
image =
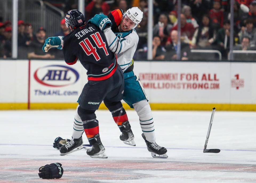
[[[11,58],[11,27],[5,27],[5,41],[3,45],[2,55],[3,58]]]

